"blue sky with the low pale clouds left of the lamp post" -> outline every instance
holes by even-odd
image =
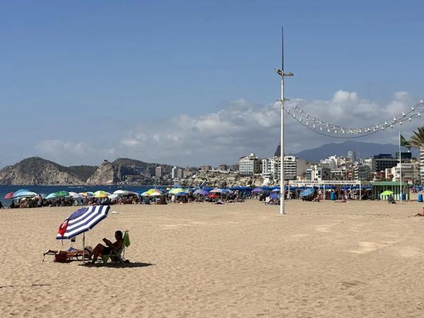
[[[249,129],[239,112],[264,114],[278,98],[282,25],[288,97],[328,105],[355,92],[382,114],[396,92],[408,93],[400,112],[423,98],[423,4],[320,2],[1,2],[0,166],[31,155],[64,165],[271,155],[278,122]],[[235,122],[223,124],[227,114]],[[288,129],[290,141],[302,136],[288,151],[334,141]]]

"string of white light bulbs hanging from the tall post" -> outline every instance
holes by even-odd
[[[413,105],[408,111],[402,112],[398,116],[385,120],[384,122],[380,122],[379,124],[363,127],[348,127],[324,122],[322,119],[306,112],[298,105],[294,105],[291,108],[285,108],[285,112],[287,112],[290,117],[293,117],[293,119],[305,126],[307,129],[324,136],[341,139],[360,138],[371,134],[377,134],[379,131],[384,131],[384,129],[393,129],[393,127],[397,124],[402,125],[404,122],[411,122],[412,119],[421,117],[421,113],[423,111],[424,100],[420,100],[420,102]]]

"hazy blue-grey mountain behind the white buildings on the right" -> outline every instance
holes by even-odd
[[[279,155],[279,146],[276,153]],[[329,155],[338,155],[341,157],[347,157],[348,151],[355,151],[357,160],[360,158],[369,158],[372,155],[379,153],[391,153],[394,156],[395,153],[399,152],[399,146],[391,143],[364,143],[361,141],[345,141],[343,143],[326,143],[325,145],[319,146],[313,149],[307,149],[295,153],[299,158],[311,161],[319,162],[320,159],[328,158]],[[406,148],[402,148],[401,151],[406,151]],[[418,157],[418,149],[411,148],[413,157]]]

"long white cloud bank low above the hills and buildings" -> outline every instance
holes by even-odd
[[[406,92],[396,92],[387,105],[360,98],[355,92],[338,90],[331,100],[292,100],[305,111],[326,122],[367,126],[384,122],[411,106]],[[417,122],[402,127],[402,134],[415,129]],[[116,133],[115,133],[116,134]],[[399,128],[367,136],[360,141],[396,143]],[[102,159],[128,157],[156,163],[202,165],[236,163],[241,155],[273,155],[280,140],[280,105],[254,105],[235,100],[217,112],[191,116],[179,114],[163,122],[143,123],[125,131],[116,144],[41,141],[40,155],[60,163],[100,163]],[[285,149],[296,153],[324,143],[343,141],[317,134],[286,115]]]

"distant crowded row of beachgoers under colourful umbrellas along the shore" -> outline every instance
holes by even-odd
[[[412,192],[420,192],[423,189],[412,188]],[[303,201],[324,200],[366,200],[373,198],[370,187],[286,187],[285,199],[298,199]],[[54,206],[95,206],[114,204],[187,204],[192,202],[211,202],[225,204],[243,202],[246,199],[257,199],[266,204],[280,204],[279,187],[238,187],[233,189],[206,188],[206,189],[149,189],[146,192],[131,192],[119,189],[112,194],[102,190],[96,192],[66,192],[59,191],[49,195],[37,194],[26,189],[10,192],[4,196],[9,199],[8,206],[0,208],[41,208]]]

